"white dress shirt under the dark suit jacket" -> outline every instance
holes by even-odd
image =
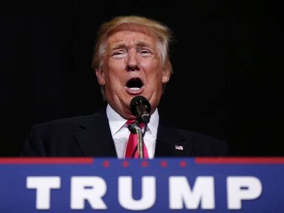
[[[126,153],[126,145],[130,131],[126,125],[126,119],[122,118],[120,114],[115,112],[113,108],[106,107],[106,116],[108,116],[108,124],[110,125],[110,132],[115,142],[115,149],[117,151],[117,158],[124,158]],[[147,147],[149,158],[154,158],[156,138],[158,131],[158,110],[156,109],[151,115],[150,122],[147,124],[147,130],[144,135],[144,143]]]

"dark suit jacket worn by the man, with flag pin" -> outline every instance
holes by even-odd
[[[218,156],[227,155],[227,151],[226,142],[178,129],[160,116],[155,157]],[[116,157],[106,108],[90,116],[34,125],[22,155]]]

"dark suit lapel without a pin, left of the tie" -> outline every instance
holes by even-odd
[[[106,108],[80,125],[80,131],[75,132],[74,136],[85,156],[96,157],[116,157],[115,144],[110,133]]]

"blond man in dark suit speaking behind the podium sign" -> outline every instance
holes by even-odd
[[[152,106],[144,136],[147,158],[226,155],[225,142],[178,129],[158,114],[171,75],[170,36],[165,25],[141,16],[119,16],[104,23],[93,67],[107,107],[91,116],[35,125],[23,155],[128,157],[128,121],[135,119],[130,101],[137,95]]]

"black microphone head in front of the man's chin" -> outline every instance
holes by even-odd
[[[136,116],[138,123],[149,123],[151,105],[145,97],[141,95],[134,97],[130,101],[130,111]]]

